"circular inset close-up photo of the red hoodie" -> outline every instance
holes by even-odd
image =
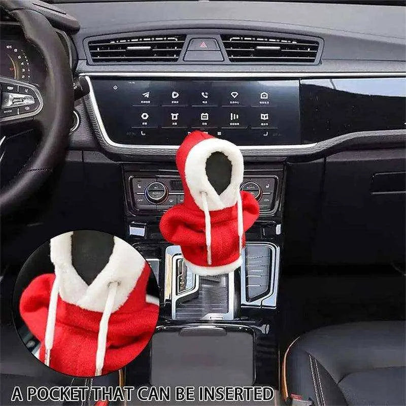
[[[127,365],[147,346],[159,314],[148,262],[124,240],[93,230],[57,235],[33,252],[13,300],[27,350],[75,377]]]

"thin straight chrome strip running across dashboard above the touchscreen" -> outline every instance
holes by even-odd
[[[82,72],[79,76],[121,76],[161,78],[391,78],[406,72]]]

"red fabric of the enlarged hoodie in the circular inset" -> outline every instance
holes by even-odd
[[[159,308],[146,303],[148,263],[125,303],[109,320],[103,374],[122,368],[136,358],[155,330]],[[29,330],[40,340],[44,362],[45,329],[54,274],[32,280],[20,299],[20,314]],[[90,377],[95,373],[97,335],[102,313],[82,309],[58,296],[51,368],[68,375]]]

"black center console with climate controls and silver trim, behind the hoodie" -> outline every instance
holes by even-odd
[[[151,264],[160,287],[151,384],[277,387],[283,165],[245,165],[241,190],[258,200],[260,216],[246,233],[242,266],[220,276],[193,274],[180,247],[163,241],[159,232],[162,213],[183,202],[175,165],[126,163],[123,177],[128,238]]]

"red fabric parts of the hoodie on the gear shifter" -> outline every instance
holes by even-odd
[[[185,162],[191,148],[200,141],[214,138],[201,131],[190,133],[176,154],[176,164],[185,193],[184,203],[168,210],[161,218],[159,228],[163,237],[182,248],[182,254],[191,263],[199,266],[220,266],[237,260],[239,253],[239,235],[237,205],[210,212],[212,264],[207,261],[205,236],[205,214],[196,205],[188,189],[185,178]],[[244,232],[259,216],[258,202],[248,192],[241,192],[243,203]],[[243,246],[245,235],[243,236]]]

